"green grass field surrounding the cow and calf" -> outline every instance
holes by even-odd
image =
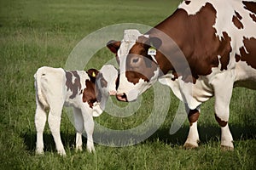
[[[177,133],[169,134],[178,105],[171,94],[166,121],[140,144],[120,148],[96,144],[96,153],[90,154],[84,142],[84,151],[75,152],[75,130],[65,110],[61,138],[67,157],[57,155],[48,125],[44,131],[44,156],[35,155],[33,74],[38,67],[63,67],[75,45],[104,26],[119,23],[154,26],[172,14],[178,3],[174,0],[0,0],[0,169],[254,169],[256,92],[245,88],[234,89],[230,105],[234,151],[220,150],[220,129],[213,116],[214,99],[201,108],[200,147],[184,150],[189,122],[184,122]],[[99,69],[112,58],[113,54],[103,48],[86,67]],[[152,110],[152,95],[152,89],[143,94],[143,105],[132,116],[102,114],[95,120],[113,129],[137,126]]]

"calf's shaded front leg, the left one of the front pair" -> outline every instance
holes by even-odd
[[[79,108],[73,108],[74,122],[76,127],[76,150],[83,150],[82,133],[84,131],[84,120]]]

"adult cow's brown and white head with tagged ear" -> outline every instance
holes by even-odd
[[[137,30],[126,30],[122,41],[110,41],[107,46],[119,64],[119,88],[121,101],[136,100],[156,82],[160,68],[155,59],[161,45],[158,38],[148,37]]]

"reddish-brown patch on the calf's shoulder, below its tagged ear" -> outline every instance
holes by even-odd
[[[83,102],[87,102],[90,105],[90,108],[93,107],[93,104],[96,102],[96,90],[95,83],[90,80],[85,81],[84,92],[83,92]]]

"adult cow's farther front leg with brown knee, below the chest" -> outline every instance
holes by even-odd
[[[186,107],[187,111],[189,110],[188,107]],[[189,110],[188,118],[189,118],[189,135],[188,138],[183,145],[186,149],[193,149],[198,147],[199,143],[199,134],[197,130],[197,120],[200,115],[200,109],[197,108],[195,110]]]

